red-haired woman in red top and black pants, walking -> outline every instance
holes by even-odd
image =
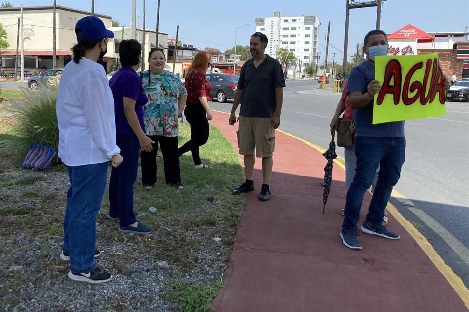
[[[206,168],[199,155],[199,147],[207,143],[209,138],[209,122],[212,113],[208,101],[210,98],[210,83],[205,73],[210,65],[210,54],[199,51],[195,55],[186,77],[187,101],[184,115],[191,125],[191,139],[179,148],[179,156],[191,151],[196,169]]]

